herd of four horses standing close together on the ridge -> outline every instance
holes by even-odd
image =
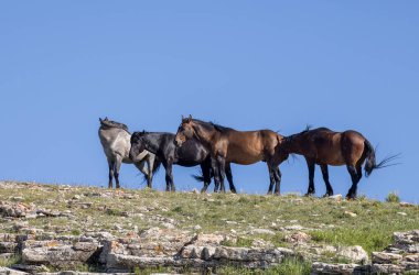
[[[397,155],[377,163],[375,150],[367,139],[356,131],[334,132],[326,128],[310,129],[282,136],[271,130],[237,131],[213,122],[182,117],[175,134],[166,132],[130,133],[127,125],[116,121],[99,119],[99,139],[109,166],[109,188],[112,178],[119,188],[121,163],[132,163],[147,178],[152,188],[152,177],[160,165],[165,169],[166,190],[174,191],[172,166],[201,166],[202,176],[194,176],[204,183],[201,191],[206,191],[214,178],[214,191],[225,193],[224,178],[229,189],[236,193],[230,164],[249,165],[265,162],[269,172],[268,194],[280,194],[281,173],[279,165],[290,154],[304,156],[309,168],[307,195],[313,195],[314,166],[321,167],[326,185],[325,196],[333,195],[329,182],[327,165],[346,165],[352,178],[347,199],[356,198],[357,184],[362,178],[362,165],[369,176],[374,169],[391,165]],[[147,165],[146,165],[147,163]]]

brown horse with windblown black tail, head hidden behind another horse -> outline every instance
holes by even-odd
[[[346,165],[351,174],[352,186],[347,191],[347,199],[356,198],[357,185],[363,176],[362,165],[365,163],[365,176],[369,176],[374,169],[389,166],[388,163],[398,155],[390,156],[376,163],[375,150],[369,141],[361,133],[347,130],[334,132],[327,128],[318,128],[286,136],[280,145],[280,154],[303,155],[309,167],[309,188],[307,196],[315,193],[314,189],[314,168],[321,167],[323,180],[326,185],[326,196],[333,196],[333,188],[329,182],[327,165]]]

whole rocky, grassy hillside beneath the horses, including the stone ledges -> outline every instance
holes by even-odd
[[[418,229],[405,202],[0,182],[0,274],[419,274]]]

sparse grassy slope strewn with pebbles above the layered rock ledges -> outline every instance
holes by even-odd
[[[370,253],[389,245],[395,231],[419,229],[419,206],[367,198],[347,201],[296,195],[109,190],[30,183],[8,186],[0,185],[1,201],[47,209],[44,217],[26,219],[29,228],[67,235],[107,231],[127,237],[159,227],[237,235],[234,243],[225,241],[226,246],[246,248],[261,240],[289,248],[289,232],[300,231],[310,237],[311,243],[361,245]],[[71,213],[72,218],[54,211]],[[17,227],[15,220],[2,219],[0,233],[13,233]]]

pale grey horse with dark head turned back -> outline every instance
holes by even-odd
[[[108,120],[108,118],[100,119],[99,139],[109,167],[109,184],[108,187],[112,188],[112,177],[115,177],[116,188],[120,188],[119,185],[119,169],[121,163],[131,164],[142,172],[147,178],[147,186],[152,187],[152,176],[158,170],[160,162],[154,154],[150,152],[142,152],[137,156],[136,162],[129,157],[129,151],[131,148],[131,133],[128,131],[128,127],[123,123]],[[146,169],[146,162],[148,169]]]

